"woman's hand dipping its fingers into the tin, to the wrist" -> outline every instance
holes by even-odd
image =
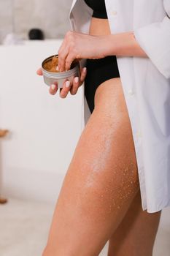
[[[58,50],[58,69],[69,70],[74,59],[101,59],[107,48],[106,36],[92,36],[69,31]]]

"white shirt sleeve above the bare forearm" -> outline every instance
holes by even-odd
[[[134,30],[134,36],[152,63],[165,78],[170,78],[170,0],[163,1],[166,16]]]

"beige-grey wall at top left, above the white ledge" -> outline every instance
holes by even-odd
[[[0,42],[9,32],[23,39],[28,30],[38,27],[46,38],[58,39],[70,29],[72,0],[0,0]]]

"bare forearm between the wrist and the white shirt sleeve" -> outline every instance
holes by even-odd
[[[105,37],[106,55],[148,57],[134,37],[133,31]]]

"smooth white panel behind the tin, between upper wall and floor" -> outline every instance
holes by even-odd
[[[36,69],[60,41],[0,46],[0,127],[3,194],[56,200],[80,137],[82,88],[65,99],[48,93]]]

